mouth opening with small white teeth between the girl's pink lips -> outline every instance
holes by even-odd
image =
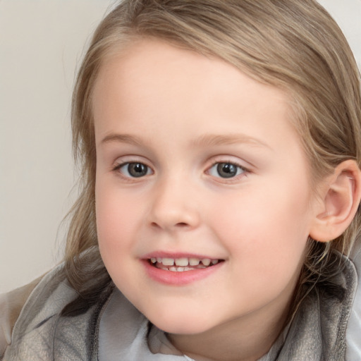
[[[152,257],[148,259],[149,264],[157,269],[164,269],[164,271],[183,272],[193,271],[195,269],[205,269],[212,267],[219,262],[224,262],[224,259],[210,259],[210,258],[166,258],[166,257]]]

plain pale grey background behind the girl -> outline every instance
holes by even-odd
[[[361,0],[320,1],[361,64]],[[70,102],[85,43],[114,0],[0,0],[0,293],[61,259],[75,199]]]

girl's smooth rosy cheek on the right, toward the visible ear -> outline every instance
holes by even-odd
[[[230,255],[237,258],[235,267],[247,265],[260,274],[298,267],[309,234],[308,199],[307,188],[269,184],[226,202],[219,200],[224,202],[219,207],[222,216],[214,211],[212,224]]]

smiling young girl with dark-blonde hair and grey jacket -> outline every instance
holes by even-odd
[[[122,1],[75,85],[66,259],[3,300],[4,360],[360,360],[360,121],[315,1]]]

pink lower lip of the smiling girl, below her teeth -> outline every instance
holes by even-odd
[[[142,259],[142,263],[145,266],[148,276],[159,283],[164,283],[171,286],[183,286],[189,283],[200,281],[216,272],[224,262],[214,264],[212,267],[203,269],[193,269],[192,271],[166,271],[149,264],[147,259]]]

